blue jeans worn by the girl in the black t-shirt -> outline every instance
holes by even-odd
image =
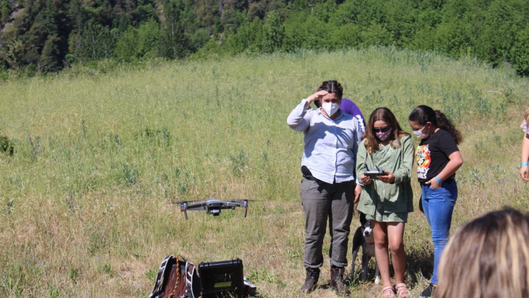
[[[457,183],[455,180],[450,183],[443,182],[442,186],[437,189],[428,185],[422,186],[422,208],[432,230],[434,253],[431,283],[435,285],[437,284],[439,260],[450,234],[455,201],[457,201]]]

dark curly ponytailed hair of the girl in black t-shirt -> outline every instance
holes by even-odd
[[[440,110],[433,110],[429,106],[417,106],[411,111],[409,121],[414,121],[420,125],[426,125],[426,122],[431,122],[433,125],[446,130],[455,140],[455,143],[459,145],[463,141],[461,132],[455,128],[452,121],[446,117]]]

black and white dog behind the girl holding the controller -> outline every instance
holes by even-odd
[[[371,221],[366,219],[366,215],[360,213],[360,224],[353,237],[353,261],[351,262],[351,280],[355,277],[355,261],[358,255],[358,250],[362,247],[362,275],[360,279],[366,281],[367,264],[371,257],[375,257],[375,239],[373,237],[373,228],[371,228]],[[380,284],[380,274],[378,271],[378,264],[375,259],[375,284]]]

